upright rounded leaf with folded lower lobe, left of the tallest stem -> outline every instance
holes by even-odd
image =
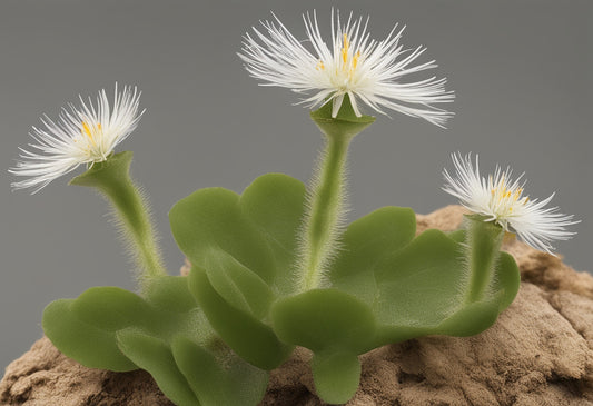
[[[198,190],[177,202],[169,219],[177,244],[191,264],[207,271],[216,293],[247,316],[265,317],[275,259],[241,211],[239,196],[221,188]]]

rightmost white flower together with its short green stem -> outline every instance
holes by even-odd
[[[475,168],[471,155],[453,155],[455,176],[444,171],[446,192],[457,197],[473,214],[465,216],[466,258],[470,267],[466,300],[480,300],[496,278],[496,260],[505,235],[518,235],[535,249],[552,254],[553,240],[566,240],[574,232],[566,227],[577,224],[573,216],[546,207],[554,195],[538,201],[523,196],[522,176],[512,180],[512,171],[497,167],[493,175],[480,175],[477,156]]]

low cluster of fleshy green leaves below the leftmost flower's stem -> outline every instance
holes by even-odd
[[[58,349],[86,366],[118,372],[146,369],[178,405],[219,405],[208,399],[243,386],[250,387],[243,404],[257,405],[267,373],[220,343],[189,293],[187,277],[154,278],[145,288],[144,297],[121,288],[97,287],[78,299],[55,301],[46,308],[43,329]],[[188,367],[177,364],[172,348],[180,336],[191,340],[197,353],[192,359],[204,359],[205,370],[220,365],[220,374],[229,378],[213,386],[211,377],[195,374],[200,365],[192,366],[194,373],[186,376]],[[205,393],[196,393],[198,388]]]

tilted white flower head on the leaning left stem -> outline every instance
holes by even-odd
[[[138,111],[140,92],[136,87],[123,87],[118,93],[116,85],[112,108],[105,89],[99,91],[96,106],[90,98],[88,103],[79,98],[80,108],[69,103],[57,121],[43,116],[43,128],[32,128],[30,136],[36,143],[29,143],[31,150],[21,148],[21,160],[9,170],[27,177],[13,182],[14,189],[33,188],[34,194],[81,164],[105,161],[136,129],[144,113]]]

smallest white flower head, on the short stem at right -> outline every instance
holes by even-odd
[[[544,208],[554,197],[537,201],[523,196],[521,181],[511,179],[511,169],[502,170],[496,167],[494,175],[488,178],[480,176],[477,156],[475,168],[472,157],[453,155],[456,176],[444,170],[447,185],[443,190],[457,197],[467,209],[485,216],[486,221],[495,221],[505,231],[516,232],[526,244],[535,249],[552,254],[553,240],[565,240],[575,232],[566,231],[565,227],[577,224],[573,216],[557,212],[557,207]]]

